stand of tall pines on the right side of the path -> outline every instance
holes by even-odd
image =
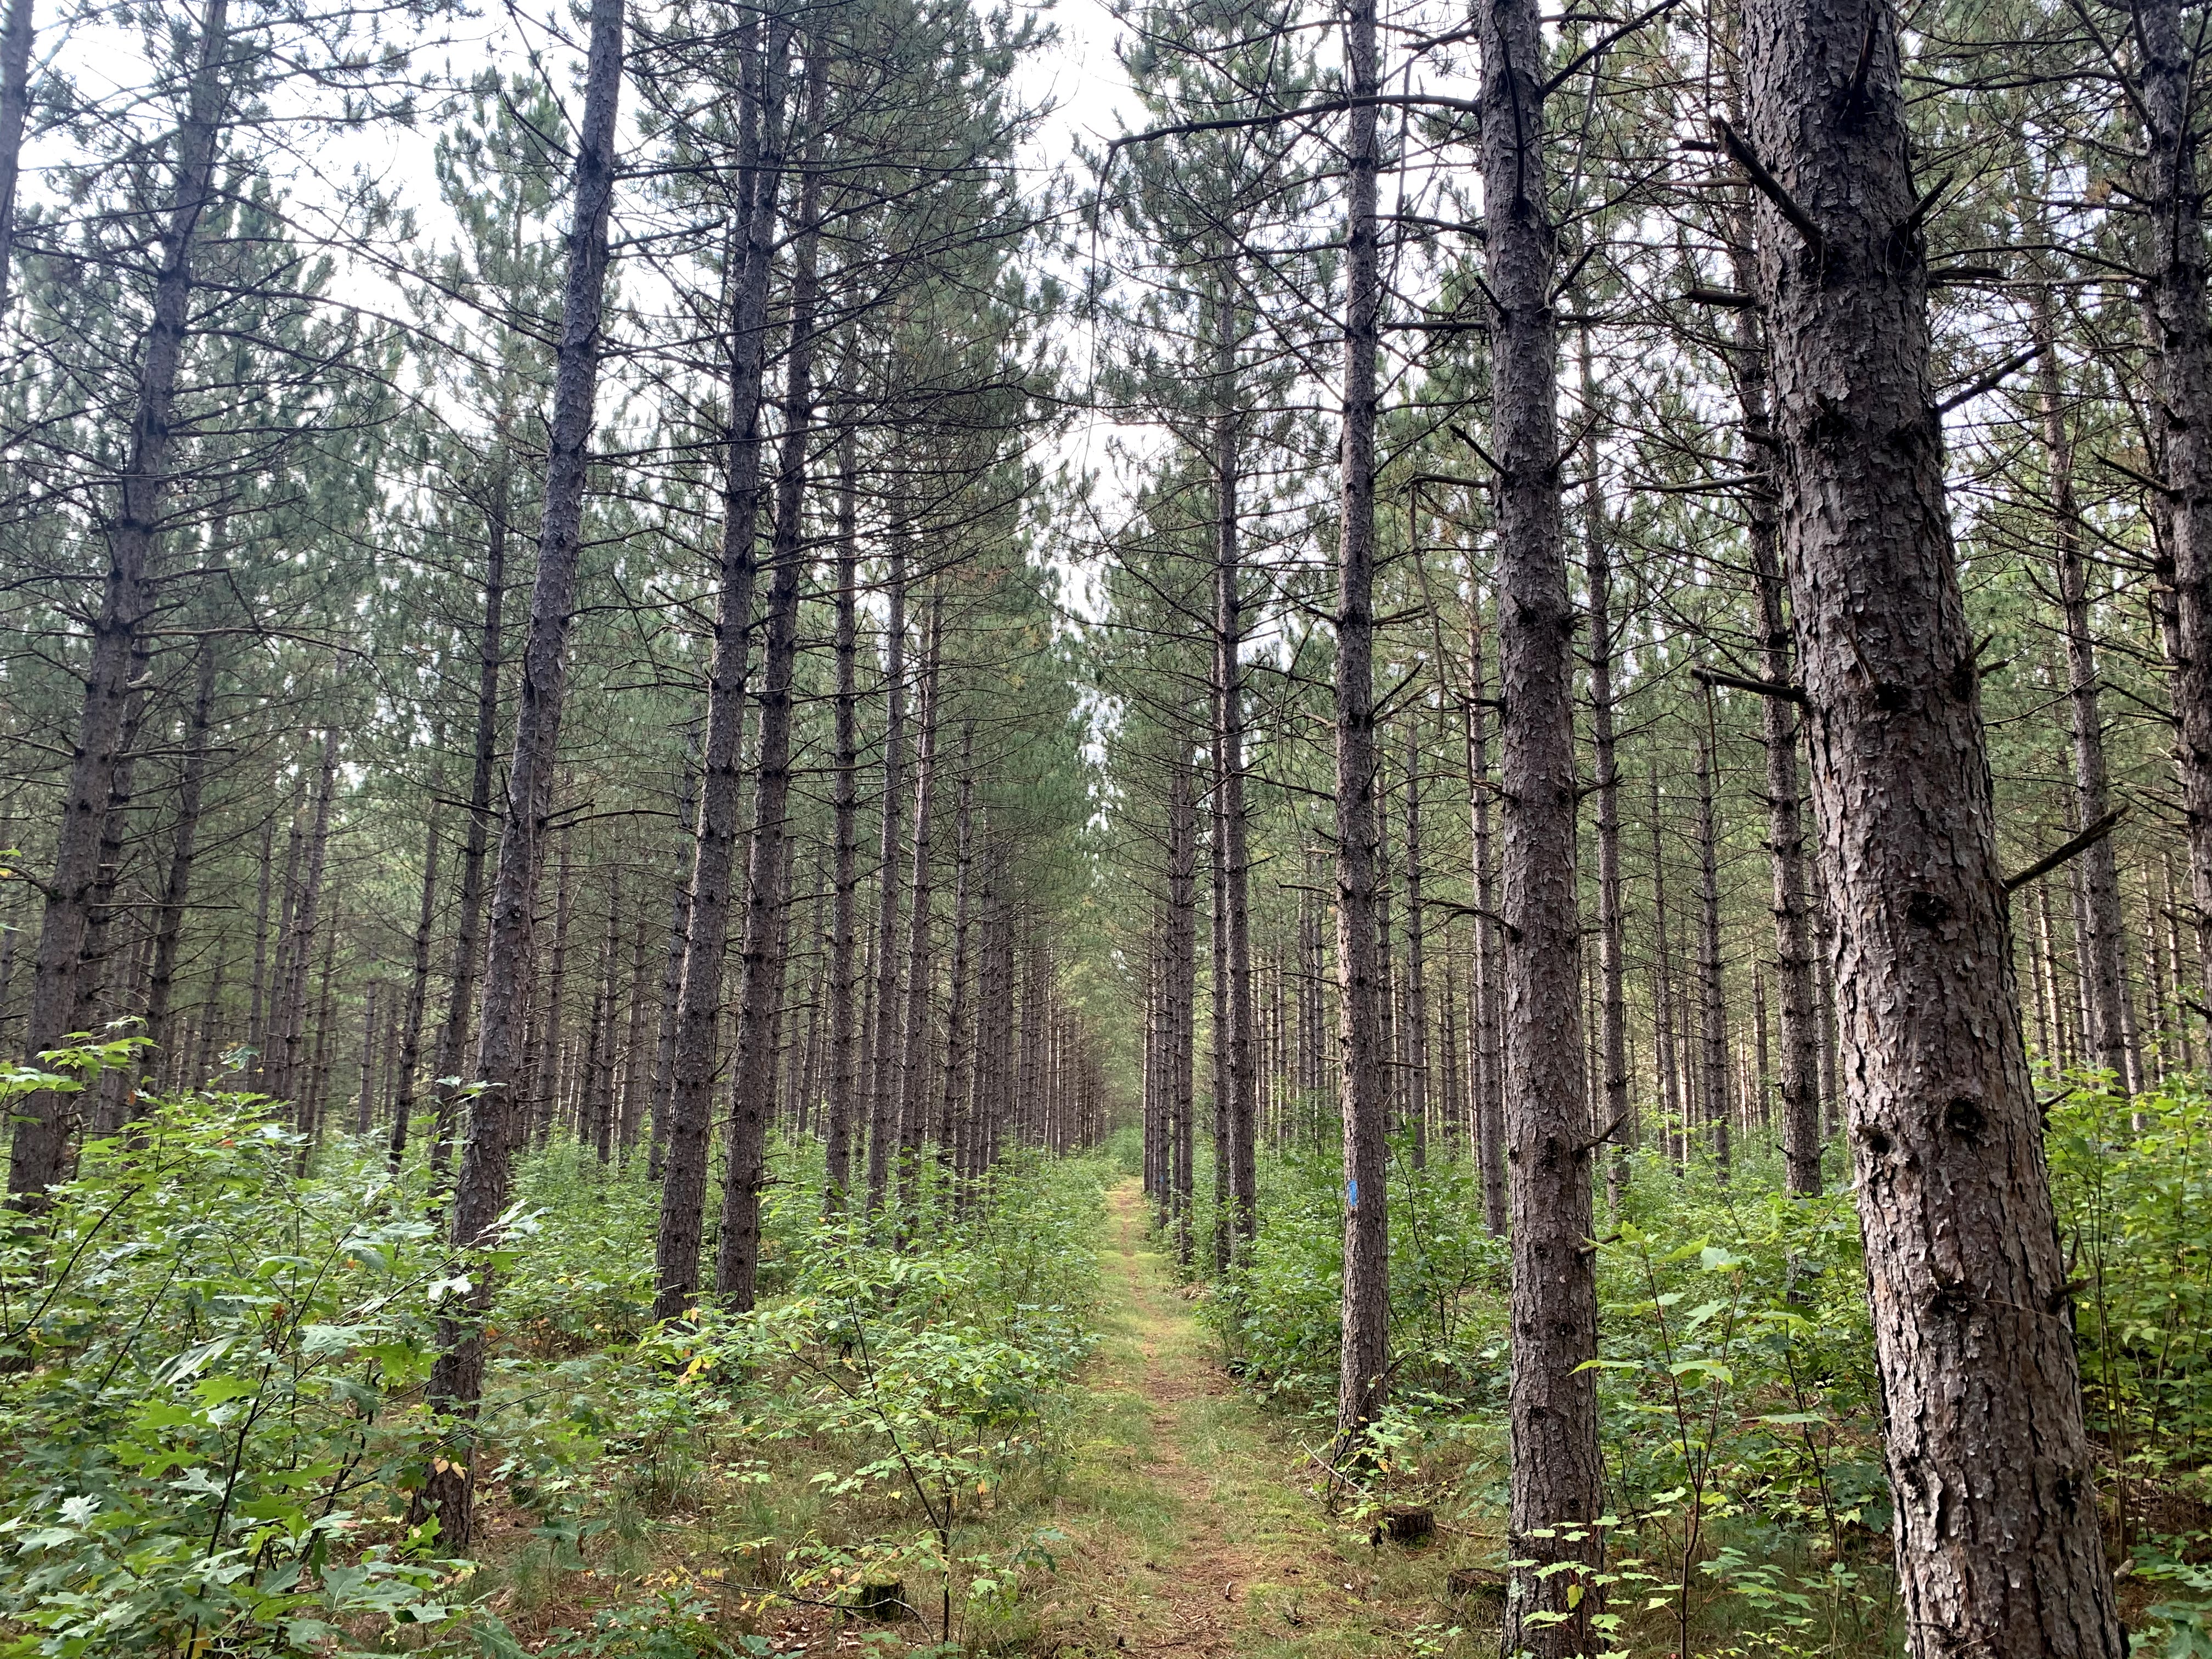
[[[1506,1646],[1582,1652],[1617,1152],[1851,1181],[1916,1650],[2121,1652],[2024,1037],[2121,1095],[2205,1040],[2201,44],[1310,22],[1137,13],[1091,201],[1161,1221],[1223,1270],[1254,1146],[1340,1124],[1356,1455],[1391,1159],[1467,1148]]]

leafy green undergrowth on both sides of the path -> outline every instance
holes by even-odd
[[[64,1051],[11,1093],[93,1082]],[[2048,1146],[2101,1524],[2146,1652],[2212,1648],[2212,1102],[2177,1084],[2053,1102]],[[0,1652],[1077,1652],[1035,1604],[1062,1531],[1097,1340],[1099,1152],[925,1172],[883,1225],[823,1221],[818,1148],[785,1141],[763,1298],[657,1325],[657,1188],[575,1146],[524,1161],[502,1248],[453,1256],[420,1170],[369,1139],[312,1161],[246,1093],[150,1104],[93,1141],[0,1274]],[[1338,1473],[1276,1471],[1347,1537],[1407,1557],[1429,1652],[1495,1648],[1509,1566],[1506,1252],[1462,1148],[1394,1146],[1391,1405]],[[1188,1276],[1230,1376],[1290,1442],[1334,1422],[1340,1181],[1263,1159],[1263,1225]],[[1201,1170],[1203,1172],[1203,1170]],[[1203,1181],[1201,1181],[1203,1188]],[[1597,1243],[1604,1586],[1619,1652],[1880,1655],[1889,1562],[1858,1219],[1774,1159],[1626,1155]],[[1175,1250],[1172,1221],[1161,1228]],[[440,1307],[495,1283],[471,1559],[420,1520],[445,1444],[422,1387]],[[1303,1475],[1303,1480],[1301,1480]],[[1427,1509],[1440,1537],[1389,1544]],[[1429,1557],[1429,1559],[1425,1559]],[[1411,1586],[1411,1588],[1409,1588]],[[785,1646],[792,1644],[792,1646]]]

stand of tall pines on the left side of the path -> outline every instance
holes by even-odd
[[[467,1551],[518,1157],[641,1164],[684,1318],[752,1307],[779,1135],[907,1237],[925,1170],[1093,1144],[1113,1077],[1029,553],[1035,35],[597,0],[571,97],[418,69],[445,18],[208,0],[117,38],[128,119],[75,55],[35,88],[71,159],[13,221],[0,1037],[150,1037],[20,1102],[29,1217],[217,1077],[303,1159],[431,1166],[476,1265],[416,1504]],[[418,243],[341,150],[420,115]]]

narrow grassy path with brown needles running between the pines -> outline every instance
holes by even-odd
[[[1495,1648],[1495,1604],[1444,1599],[1447,1540],[1374,1544],[1329,1515],[1294,1422],[1237,1391],[1219,1340],[1146,1237],[1135,1181],[1108,1194],[1102,1345],[1051,1526],[1037,1655],[1354,1659]]]

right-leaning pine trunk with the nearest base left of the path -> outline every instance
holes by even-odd
[[[522,653],[522,695],[515,712],[515,752],[507,772],[507,816],[500,821],[500,865],[491,894],[484,949],[482,1022],[476,1046],[480,1093],[469,1110],[460,1181],[453,1188],[453,1245],[493,1243],[507,1210],[509,1159],[518,1117],[515,1082],[524,1057],[524,989],[531,911],[544,816],[560,759],[562,695],[568,679],[568,622],[575,615],[577,551],[584,529],[586,451],[599,385],[599,345],[606,305],[606,217],[615,192],[615,106],[622,97],[624,0],[591,0],[591,53],[584,71],[584,119],[575,139],[575,219],[568,230],[568,285],[562,296],[560,343],[553,369],[553,411],[546,429],[544,520],[538,538],[538,577]],[[427,1400],[460,1420],[442,1467],[434,1464],[418,1498],[438,1515],[440,1548],[465,1553],[473,1524],[473,1420],[484,1391],[484,1310],[491,1274],[478,1265],[471,1290],[440,1321],[438,1360]]]

